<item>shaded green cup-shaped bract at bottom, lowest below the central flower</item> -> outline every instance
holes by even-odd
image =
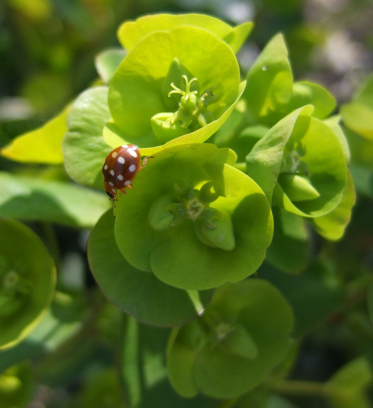
[[[286,355],[293,315],[270,283],[246,279],[216,289],[201,318],[173,329],[167,372],[185,397],[234,398],[250,391]]]

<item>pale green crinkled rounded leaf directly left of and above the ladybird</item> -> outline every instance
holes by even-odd
[[[101,189],[102,166],[112,150],[103,139],[103,127],[110,118],[107,97],[104,86],[81,93],[71,107],[63,139],[65,169],[71,179]]]

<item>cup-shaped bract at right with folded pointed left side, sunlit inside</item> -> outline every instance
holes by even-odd
[[[304,217],[337,207],[346,185],[346,161],[332,129],[310,116],[312,107],[280,120],[246,156],[246,172],[274,205]]]

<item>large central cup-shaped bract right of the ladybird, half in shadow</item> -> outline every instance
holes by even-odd
[[[114,233],[126,260],[190,290],[253,273],[272,238],[272,214],[263,191],[234,161],[232,150],[206,143],[149,159],[133,191],[118,195]]]

